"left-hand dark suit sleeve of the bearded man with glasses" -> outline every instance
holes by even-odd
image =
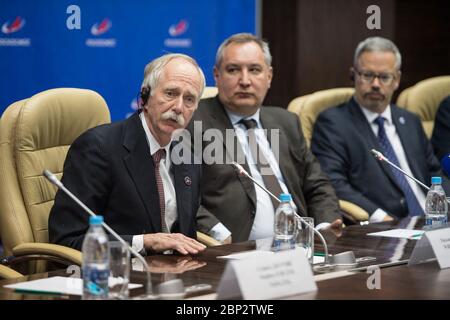
[[[351,185],[347,173],[351,170],[345,135],[333,115],[322,113],[314,125],[312,152],[333,184],[339,199],[357,204],[369,214],[378,206]],[[351,142],[350,142],[351,143]]]

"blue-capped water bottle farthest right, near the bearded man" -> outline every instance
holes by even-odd
[[[431,178],[431,188],[425,201],[425,228],[432,229],[447,223],[448,205],[441,177]]]

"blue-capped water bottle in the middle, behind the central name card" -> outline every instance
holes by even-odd
[[[280,194],[281,203],[275,211],[274,247],[278,250],[295,248],[297,218],[291,206],[292,197],[288,193]]]

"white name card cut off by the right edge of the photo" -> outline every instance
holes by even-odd
[[[441,269],[450,267],[450,228],[426,231],[417,241],[408,265],[435,259]]]

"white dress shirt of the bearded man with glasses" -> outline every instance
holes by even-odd
[[[409,167],[408,160],[406,158],[405,150],[403,149],[402,142],[400,140],[400,137],[397,133],[397,129],[395,128],[395,124],[392,121],[392,113],[391,113],[391,106],[388,105],[386,110],[384,110],[383,113],[378,114],[376,112],[372,112],[366,108],[361,107],[362,112],[364,113],[364,116],[366,117],[367,121],[370,124],[370,127],[372,128],[373,133],[375,136],[378,136],[378,125],[374,123],[375,119],[379,116],[385,118],[384,121],[384,130],[386,131],[386,135],[389,139],[389,142],[392,145],[392,148],[395,151],[395,155],[397,156],[398,162],[400,164],[400,168],[402,168],[406,173],[409,175],[413,175],[411,172],[411,168]],[[409,186],[411,187],[412,191],[414,192],[414,195],[417,198],[417,201],[421,204],[422,209],[425,210],[425,194],[423,191],[419,188],[419,186],[412,181],[411,179],[406,179]],[[375,210],[375,212],[372,213],[372,215],[369,218],[370,222],[380,222],[383,221],[384,217],[389,214],[389,212],[385,212],[383,209],[378,208]]]

